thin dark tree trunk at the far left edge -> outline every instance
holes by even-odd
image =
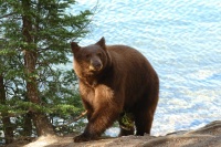
[[[3,84],[3,76],[0,75],[0,104],[6,105],[6,88]],[[2,123],[3,123],[3,133],[6,138],[6,144],[10,144],[13,141],[13,127],[10,122],[10,117],[8,117],[8,112],[2,112]]]

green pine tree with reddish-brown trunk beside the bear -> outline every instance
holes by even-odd
[[[22,117],[29,126],[22,127],[25,135],[32,133],[32,122],[38,136],[54,134],[50,117],[67,118],[78,111],[76,77],[60,65],[70,62],[70,42],[88,32],[92,13],[69,13],[74,4],[74,0],[0,0],[0,84],[6,95],[0,95],[4,99],[0,111],[19,114],[18,122]]]

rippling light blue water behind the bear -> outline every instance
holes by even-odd
[[[74,10],[84,9],[95,15],[81,45],[105,36],[107,44],[136,48],[156,69],[160,99],[152,135],[221,119],[220,0],[78,0]]]

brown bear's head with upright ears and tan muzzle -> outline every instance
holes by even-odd
[[[97,75],[110,62],[104,38],[88,46],[72,42],[71,48],[74,54],[74,71],[80,77]]]

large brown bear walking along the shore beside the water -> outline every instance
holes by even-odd
[[[127,45],[106,45],[104,36],[87,46],[71,42],[73,69],[88,123],[75,143],[98,139],[118,120],[118,136],[150,134],[159,98],[159,78],[148,60]],[[123,118],[129,114],[130,125]]]

